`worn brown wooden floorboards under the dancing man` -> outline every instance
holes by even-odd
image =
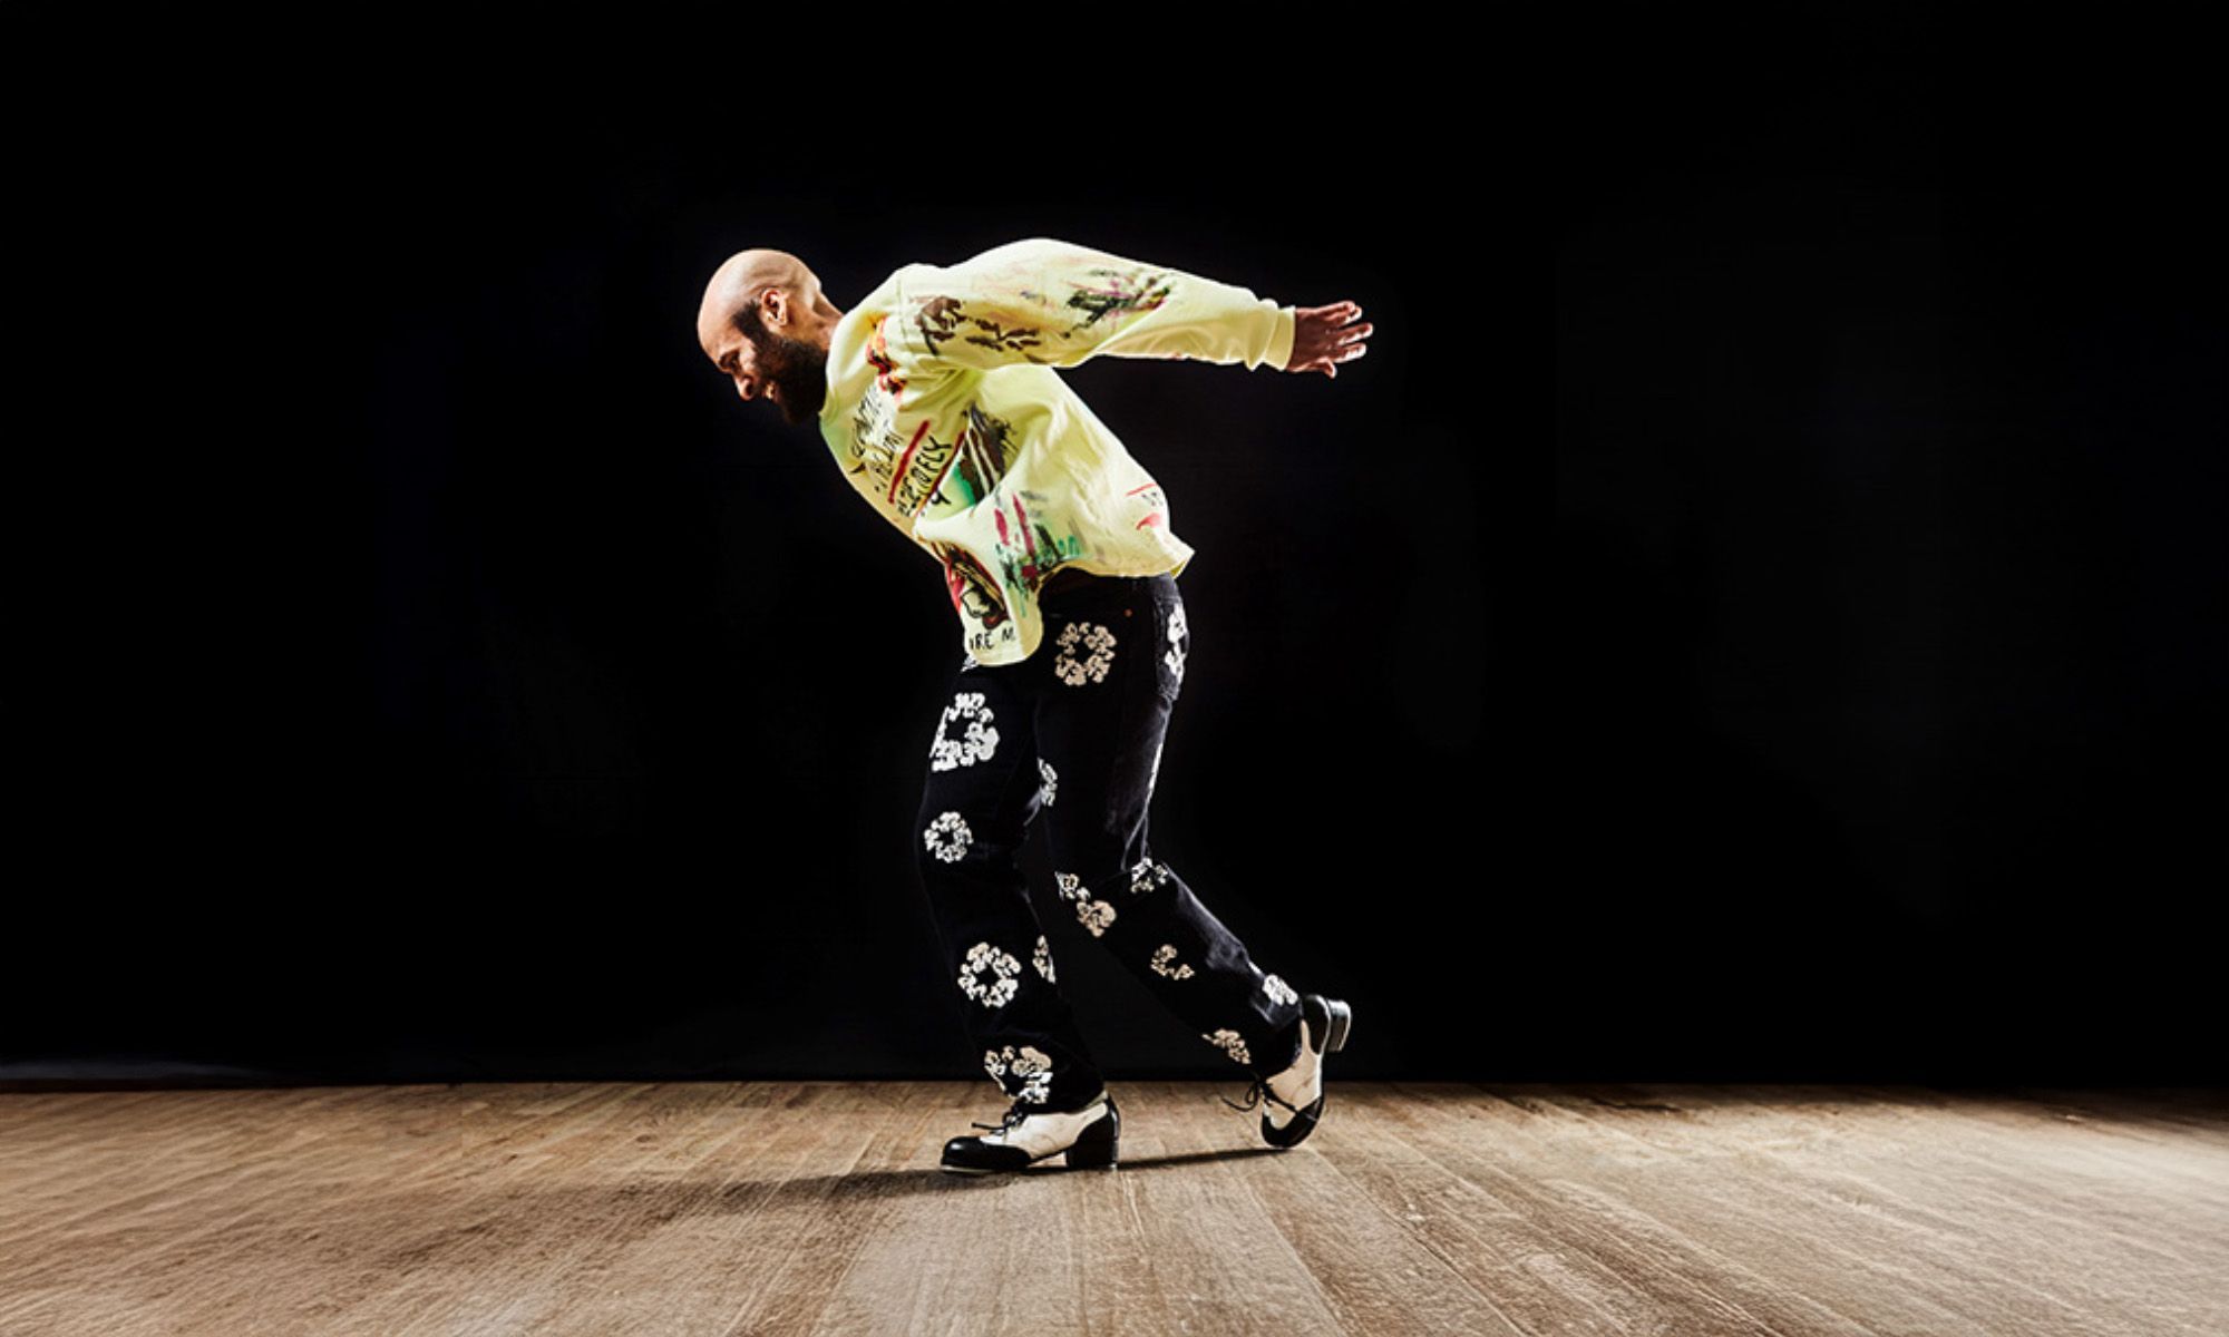
[[[1114,1083],[0,1094],[0,1333],[2229,1333],[2229,1094]]]

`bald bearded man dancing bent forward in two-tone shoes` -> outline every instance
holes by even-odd
[[[845,479],[938,559],[961,664],[929,749],[916,860],[967,1034],[1010,1096],[943,1168],[1019,1170],[1065,1152],[1114,1165],[1119,1110],[1068,1003],[1014,856],[1045,813],[1059,894],[1199,1036],[1248,1067],[1271,1145],[1324,1110],[1322,1058],[1351,1009],[1297,994],[1146,845],[1184,682],[1168,499],[1057,368],[1097,354],[1337,377],[1362,308],[1244,287],[1050,238],[961,265],[905,265],[849,312],[802,261],[747,250],[698,310],[704,357],[744,401],[816,423]],[[1050,644],[1048,644],[1050,642]],[[1228,1103],[1228,1101],[1226,1101]]]

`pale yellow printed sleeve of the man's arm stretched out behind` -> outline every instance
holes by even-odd
[[[1103,352],[1284,368],[1300,334],[1295,308],[1246,287],[1043,236],[923,267],[898,316],[901,357],[976,370]]]

